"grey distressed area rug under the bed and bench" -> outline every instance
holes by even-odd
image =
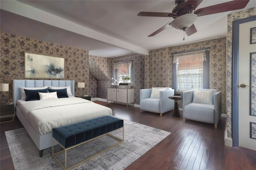
[[[38,148],[24,128],[6,131],[6,139],[12,156],[15,170],[61,170],[52,157],[52,148],[44,149],[43,157],[39,157]],[[132,162],[166,138],[170,132],[124,120],[124,142],[114,148],[88,160],[74,170],[122,170]],[[121,137],[122,130],[113,135]],[[117,140],[104,136],[68,151],[68,167],[78,163],[79,159],[104,150]],[[57,147],[57,148],[56,148]],[[58,151],[58,146],[54,147]],[[64,162],[63,155],[59,159]]]

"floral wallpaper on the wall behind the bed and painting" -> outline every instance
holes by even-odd
[[[84,92],[88,92],[87,50],[1,32],[0,76],[1,83],[9,83],[8,98],[12,98],[12,80],[24,79],[24,52],[65,58],[64,80],[75,80],[75,95],[77,82],[86,82]]]

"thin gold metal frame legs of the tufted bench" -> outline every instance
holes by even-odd
[[[122,131],[123,131],[123,138],[122,138],[122,139],[121,139],[121,138],[118,138],[118,137],[116,137],[116,136],[113,136],[113,135],[110,134],[110,133],[112,133],[112,132],[114,132],[114,131],[116,131],[116,130],[120,130],[120,129],[122,129]],[[88,161],[88,160],[90,160],[90,159],[92,159],[92,158],[94,158],[94,157],[96,157],[96,156],[98,156],[98,155],[100,155],[100,154],[106,152],[107,150],[110,150],[111,148],[114,148],[115,146],[117,146],[117,145],[123,143],[123,142],[124,142],[124,127],[118,128],[118,129],[116,129],[116,130],[113,130],[113,131],[108,132],[108,133],[106,133],[106,134],[102,134],[102,135],[97,136],[97,137],[95,137],[95,138],[92,138],[92,139],[90,139],[90,140],[86,140],[86,141],[84,141],[84,142],[82,142],[82,143],[80,143],[80,144],[71,146],[71,147],[69,147],[69,148],[64,148],[64,146],[62,146],[56,139],[52,138],[52,156],[55,158],[55,160],[58,162],[58,164],[60,164],[60,166],[61,166],[64,170],[70,170],[70,169],[72,169],[72,168],[75,168],[76,166],[81,165],[81,164],[83,164],[84,162],[86,162],[86,161]],[[77,146],[80,146],[80,145],[82,145],[82,144],[85,144],[85,143],[87,143],[87,142],[90,142],[90,141],[92,141],[92,140],[95,140],[95,139],[97,139],[97,138],[101,138],[101,137],[106,136],[106,135],[111,136],[112,138],[115,138],[115,139],[119,140],[120,142],[118,142],[118,143],[114,144],[113,146],[110,146],[109,148],[106,148],[105,150],[102,150],[101,152],[99,152],[99,153],[97,153],[97,154],[94,154],[93,156],[91,156],[91,157],[89,157],[89,158],[87,158],[87,159],[85,159],[85,160],[82,160],[81,162],[78,162],[77,164],[74,164],[73,166],[70,166],[69,168],[67,168],[67,151],[68,151],[68,150],[70,150],[70,149],[72,149],[72,148],[75,148],[75,147],[77,147]],[[57,152],[57,153],[54,153],[54,141],[56,141],[64,150],[62,150],[62,151],[60,151],[60,152]],[[61,154],[61,153],[63,153],[63,152],[65,152],[65,165],[64,165],[64,166],[63,166],[63,165],[60,163],[60,161],[56,158],[56,155]]]

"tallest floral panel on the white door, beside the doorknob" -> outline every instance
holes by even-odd
[[[250,53],[250,86],[256,87],[256,52]],[[256,116],[256,88],[250,88],[250,116]]]

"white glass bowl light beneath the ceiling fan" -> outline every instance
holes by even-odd
[[[194,24],[194,22],[197,19],[197,15],[196,14],[185,14],[182,16],[179,16],[178,18],[175,18],[172,23],[171,26],[173,28],[176,28],[177,30],[186,30],[186,28],[189,28],[190,26],[192,26],[192,24]]]

